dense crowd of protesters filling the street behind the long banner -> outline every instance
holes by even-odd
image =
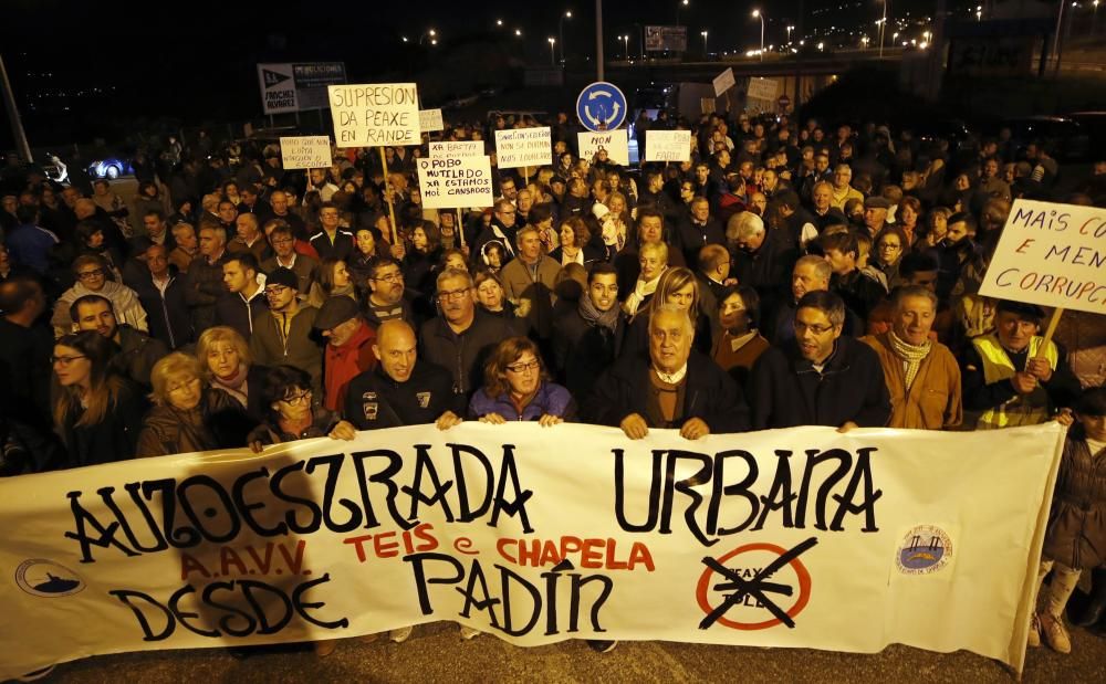
[[[386,149],[385,176],[376,150],[303,173],[272,145],[174,141],[131,202],[7,169],[2,472],[462,420],[696,440],[1058,419],[1031,642],[1071,649],[1082,569],[1077,621],[1106,629],[1106,322],[1070,312],[1045,344],[1046,312],[978,294],[1012,200],[1106,207],[1106,162],[1071,178],[1006,136],[709,115],[682,123],[690,161],[637,171],[550,124],[551,165],[489,149],[494,204],[458,211],[421,206],[422,148]]]

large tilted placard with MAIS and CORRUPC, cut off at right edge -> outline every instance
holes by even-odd
[[[979,293],[1106,314],[1106,209],[1014,200]]]

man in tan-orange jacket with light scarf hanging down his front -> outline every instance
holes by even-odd
[[[908,285],[896,291],[891,327],[860,338],[879,356],[891,399],[888,428],[949,430],[963,420],[960,367],[932,338],[937,295]]]

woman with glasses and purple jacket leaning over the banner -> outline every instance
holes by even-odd
[[[482,423],[536,420],[543,428],[576,418],[568,390],[550,382],[541,351],[528,337],[509,337],[484,365],[484,385],[469,402],[469,418]]]

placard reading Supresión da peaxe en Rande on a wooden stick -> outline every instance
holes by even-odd
[[[414,83],[330,85],[338,147],[418,145],[418,93]]]

